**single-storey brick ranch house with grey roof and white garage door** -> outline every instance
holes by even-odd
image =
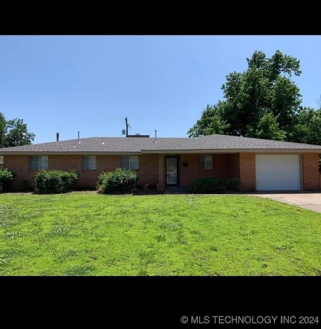
[[[138,184],[189,187],[196,178],[239,178],[242,191],[320,188],[321,145],[213,134],[198,138],[91,137],[0,149],[17,173],[13,189],[40,169],[77,171],[94,188],[102,171],[135,170]]]

